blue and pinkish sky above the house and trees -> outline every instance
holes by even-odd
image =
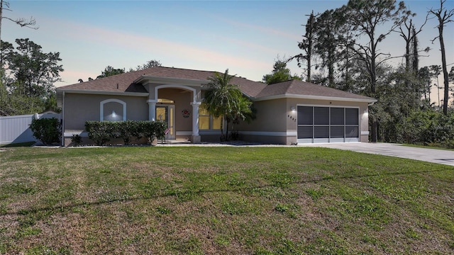
[[[278,58],[301,53],[304,26],[311,11],[322,13],[347,4],[343,0],[300,1],[18,1],[9,0],[9,18],[35,18],[38,30],[21,28],[3,19],[1,40],[30,38],[43,52],[60,52],[62,82],[55,86],[96,78],[107,67],[135,68],[149,60],[165,67],[224,72],[261,81],[272,72]],[[438,0],[409,0],[417,13],[416,26],[423,24]],[[454,0],[445,7],[454,8]],[[441,64],[436,19],[419,34],[420,67]],[[445,27],[448,70],[454,66],[454,22]],[[389,35],[380,52],[402,55],[404,40]],[[402,63],[402,58],[392,64]],[[292,74],[303,69],[290,62]],[[440,85],[443,80],[439,81]],[[442,92],[441,92],[442,93]]]

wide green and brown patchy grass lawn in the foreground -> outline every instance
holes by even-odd
[[[309,147],[4,148],[0,254],[454,254],[454,167]]]

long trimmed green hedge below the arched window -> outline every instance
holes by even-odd
[[[125,145],[145,137],[151,143],[155,138],[165,136],[167,123],[162,121],[126,120],[126,121],[87,121],[85,130],[96,145],[105,145],[111,138],[121,138]]]

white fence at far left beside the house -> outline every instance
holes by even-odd
[[[30,130],[31,120],[33,118],[57,118],[60,120],[60,114],[44,113],[30,115],[16,115],[0,117],[0,145],[8,145],[18,142],[37,141]]]

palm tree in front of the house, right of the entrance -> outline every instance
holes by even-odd
[[[250,103],[245,103],[240,88],[231,84],[234,76],[228,75],[228,69],[223,74],[216,72],[209,77],[208,89],[205,91],[202,105],[216,118],[223,117],[221,123],[221,140],[228,140],[228,123],[235,118],[243,118],[250,113]],[[245,107],[247,106],[247,107]],[[226,135],[223,134],[223,123],[226,123]]]

